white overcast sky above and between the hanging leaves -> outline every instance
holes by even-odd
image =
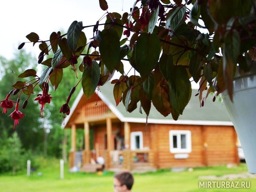
[[[133,0],[107,0],[109,12],[130,12]],[[138,3],[139,4],[139,3]],[[12,0],[1,2],[0,10],[0,56],[13,58],[13,53],[26,35],[35,32],[41,40],[48,40],[53,31],[67,31],[74,21],[83,21],[83,26],[93,25],[105,12],[98,0]],[[105,22],[105,19],[102,20]],[[83,30],[87,39],[92,37],[92,28]],[[25,44],[23,49],[37,56],[38,45]],[[124,63],[124,65],[128,65]],[[129,70],[130,67],[126,67]],[[194,85],[193,85],[194,87]]]

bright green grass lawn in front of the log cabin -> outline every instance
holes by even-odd
[[[43,176],[32,173],[30,177],[26,172],[18,172],[16,176],[11,173],[0,175],[0,191],[113,191],[113,173],[99,176],[97,173],[69,173],[65,165],[65,179],[60,179],[59,161],[56,159],[40,158],[40,168]],[[230,173],[247,172],[246,165],[227,168],[226,166],[194,168],[193,172],[171,172],[158,170],[154,173],[134,174],[135,183],[133,192],[169,192],[169,191],[256,191],[256,179],[237,179],[236,181],[251,181],[250,189],[199,189],[199,176],[221,176]]]

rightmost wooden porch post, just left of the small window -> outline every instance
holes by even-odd
[[[131,135],[131,127],[130,123],[124,122],[124,146],[125,146],[125,156],[124,156],[124,164],[128,170],[131,170],[131,144],[130,144],[130,135]]]

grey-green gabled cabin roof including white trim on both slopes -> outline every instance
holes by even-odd
[[[125,110],[123,103],[121,102],[118,106],[116,106],[116,102],[113,96],[113,84],[108,82],[100,88],[100,92],[98,95],[101,100],[103,100],[108,108],[117,116],[117,118],[121,122],[134,122],[134,123],[146,123],[146,114],[142,110],[143,114],[139,112],[140,103],[138,103],[138,107],[132,112],[129,113]],[[206,91],[205,91],[206,92]],[[172,119],[172,115],[168,115],[167,117],[162,116],[154,107],[151,105],[151,110],[148,116],[148,123],[157,123],[157,124],[193,124],[193,125],[233,125],[228,116],[227,109],[225,106],[216,99],[215,102],[212,102],[212,95],[209,95],[206,102],[204,103],[204,107],[200,108],[200,103],[198,96],[194,95],[197,93],[197,90],[192,89],[191,99],[183,111],[183,115],[179,116],[177,121]],[[96,94],[96,93],[95,93]],[[74,101],[70,115],[67,116],[65,120],[65,124],[63,124],[62,128],[64,128],[68,124],[68,120],[72,116],[75,111],[79,101],[82,99],[83,90],[81,90]]]

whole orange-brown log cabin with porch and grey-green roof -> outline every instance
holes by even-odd
[[[139,106],[132,113],[122,103],[116,106],[112,84],[101,87],[97,105],[96,93],[86,100],[81,90],[62,126],[71,129],[70,168],[77,162],[77,129],[84,129],[81,170],[99,156],[108,170],[239,164],[237,135],[226,108],[220,101],[212,102],[212,96],[200,108],[196,93],[192,90],[177,121],[162,116],[152,105],[145,133],[145,113],[139,113]]]

